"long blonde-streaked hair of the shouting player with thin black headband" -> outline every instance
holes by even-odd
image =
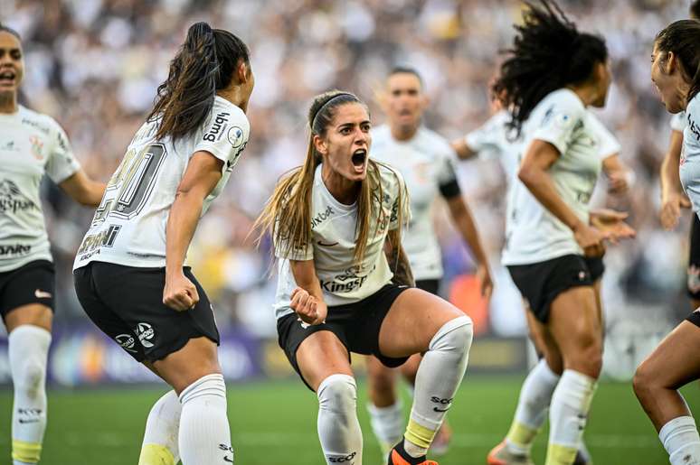
[[[364,105],[354,94],[340,90],[332,90],[314,98],[307,116],[310,135],[306,160],[302,166],[292,170],[279,181],[260,217],[255,221],[254,228],[260,228],[259,242],[269,231],[280,256],[294,259],[298,256],[297,251],[312,246],[311,193],[317,166],[322,162],[322,156],[314,144],[314,135],[326,136],[327,128],[336,115],[336,109],[350,103]],[[402,184],[393,211],[387,216],[382,208],[380,163],[369,159],[367,176],[361,182],[357,199],[356,246],[353,257],[355,265],[362,263],[368,240],[382,230],[382,225],[388,225],[392,220],[398,220],[399,225],[402,225],[407,218],[407,194],[404,189]],[[398,228],[398,232],[392,232],[391,238],[400,244],[401,228]]]

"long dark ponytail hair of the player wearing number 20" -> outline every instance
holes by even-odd
[[[147,117],[160,118],[156,138],[178,139],[201,126],[212,111],[216,91],[229,85],[239,60],[250,65],[248,46],[241,39],[207,23],[190,26]]]

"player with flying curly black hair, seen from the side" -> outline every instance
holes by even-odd
[[[530,449],[549,407],[545,463],[569,465],[577,460],[601,372],[596,294],[603,241],[633,231],[622,214],[599,222],[589,210],[601,140],[587,107],[602,107],[610,86],[605,42],[579,32],[548,0],[527,4],[523,20],[493,87],[510,110],[511,136],[523,141],[508,196],[503,262],[544,358],[525,379],[506,439],[487,463],[533,463]]]

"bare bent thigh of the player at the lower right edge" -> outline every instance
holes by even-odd
[[[639,365],[638,379],[677,389],[700,377],[700,315],[695,315],[690,318],[697,323],[682,321]]]

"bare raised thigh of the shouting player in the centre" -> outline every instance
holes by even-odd
[[[460,316],[464,312],[440,297],[421,289],[407,289],[393,301],[383,319],[379,350],[393,358],[425,352],[438,330]]]

